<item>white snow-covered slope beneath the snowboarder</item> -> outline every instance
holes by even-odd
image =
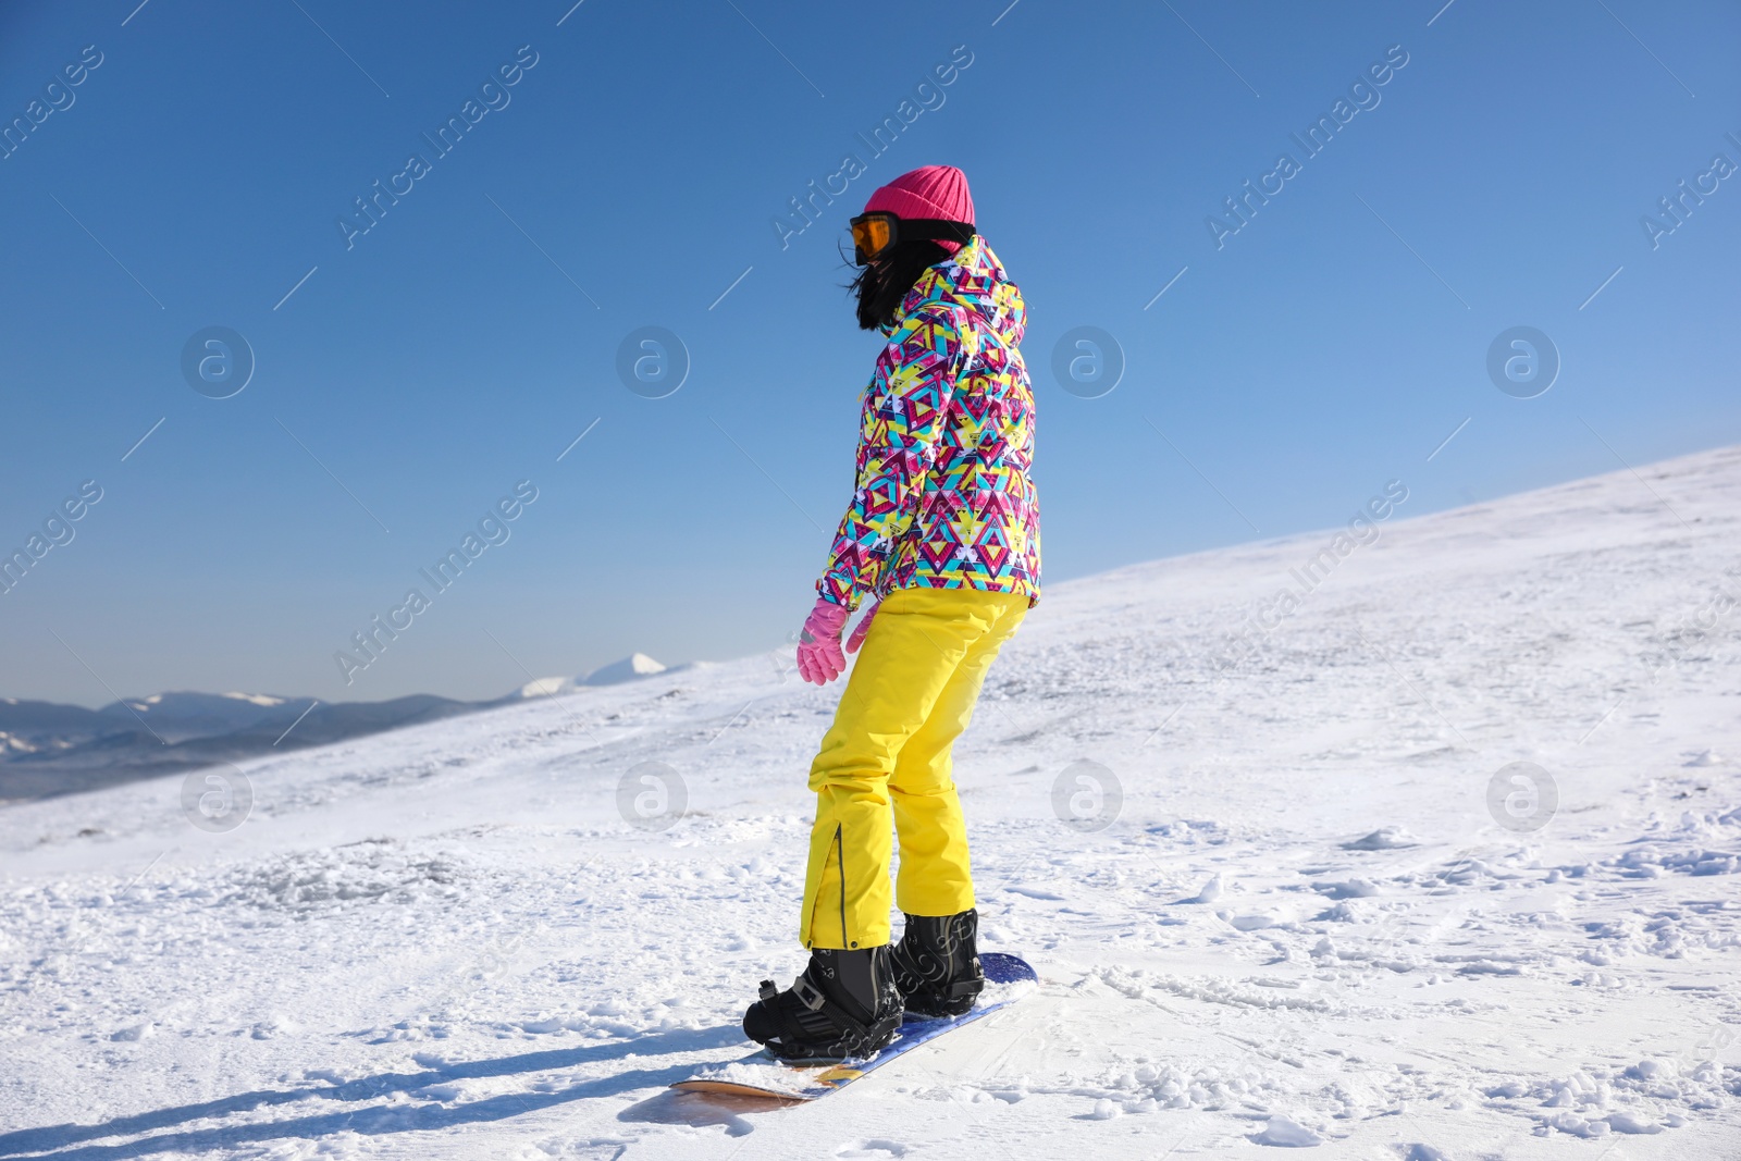
[[[1738,513],[1391,519],[1267,634],[1332,533],[1052,585],[958,747],[1041,985],[804,1107],[665,1090],[801,964],[789,651],[0,809],[0,1158],[1741,1156]]]

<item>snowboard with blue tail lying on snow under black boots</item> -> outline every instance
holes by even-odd
[[[1008,1008],[1039,982],[1024,959],[1003,952],[980,952],[980,970],[985,973],[985,990],[980,992],[980,1003],[971,1011],[937,1018],[909,1015],[895,1032],[895,1039],[874,1057],[841,1060],[839,1064],[787,1064],[776,1060],[768,1050],[761,1050],[743,1060],[707,1065],[695,1076],[677,1081],[672,1088],[686,1093],[728,1093],[792,1102],[837,1093],[919,1044],[928,1044],[945,1032],[954,1032],[965,1023]]]

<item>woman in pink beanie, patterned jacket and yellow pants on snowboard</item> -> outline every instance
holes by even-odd
[[[966,176],[902,174],[853,218],[858,325],[888,336],[865,388],[858,475],[797,667],[818,686],[864,653],[810,768],[817,823],[799,938],[810,964],[743,1015],[787,1060],[862,1057],[902,1013],[959,1015],[985,980],[949,750],[985,670],[1039,601],[1034,393],[1022,292],[973,230]],[[900,839],[890,947],[890,808]]]

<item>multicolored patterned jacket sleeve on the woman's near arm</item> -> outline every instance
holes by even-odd
[[[817,581],[823,599],[857,609],[877,592],[919,512],[968,343],[961,312],[940,303],[914,310],[890,334],[865,392],[853,503]]]

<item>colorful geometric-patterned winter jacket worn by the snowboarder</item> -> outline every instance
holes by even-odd
[[[897,588],[1039,601],[1025,327],[984,238],[919,277],[865,388],[853,503],[817,592],[848,609]]]

